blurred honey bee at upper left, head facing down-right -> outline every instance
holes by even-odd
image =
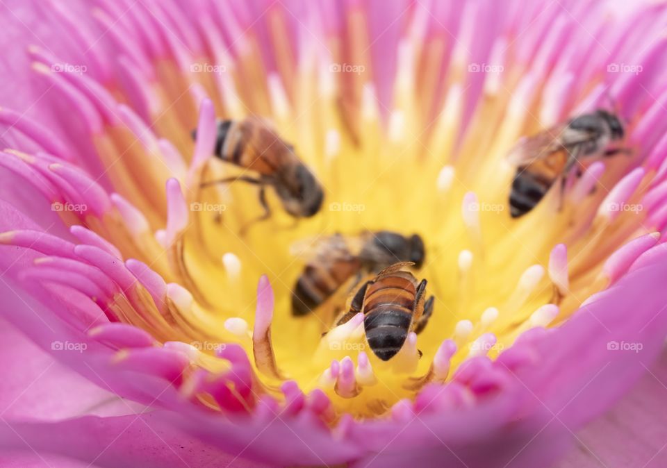
[[[196,132],[193,136],[197,137]],[[283,208],[295,218],[311,217],[322,206],[324,192],[320,183],[296,155],[294,147],[283,141],[262,119],[219,120],[215,156],[256,175],[232,176],[208,181],[201,186],[233,181],[257,185],[264,214],[255,222],[271,215],[265,196],[267,186],[273,187]]]

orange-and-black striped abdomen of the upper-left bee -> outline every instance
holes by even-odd
[[[269,128],[249,120],[217,122],[215,155],[266,176],[280,165],[286,144]]]

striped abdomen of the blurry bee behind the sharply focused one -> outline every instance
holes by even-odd
[[[306,265],[292,293],[292,314],[306,315],[361,270],[359,258],[335,258]]]

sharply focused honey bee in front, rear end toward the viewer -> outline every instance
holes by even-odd
[[[433,314],[434,296],[425,300],[425,279],[406,271],[411,262],[400,262],[382,270],[356,291],[349,311],[336,325],[363,312],[363,328],[374,355],[387,361],[402,348],[408,333],[420,333]]]

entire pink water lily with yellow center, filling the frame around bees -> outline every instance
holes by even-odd
[[[3,7],[3,465],[547,466],[659,354],[663,5]],[[596,109],[628,154],[513,219],[510,149]],[[247,116],[315,216],[269,190],[241,233],[256,188],[201,187],[240,174],[216,119]],[[304,245],[382,229],[423,237],[436,296],[386,362],[361,315],[290,314]]]

